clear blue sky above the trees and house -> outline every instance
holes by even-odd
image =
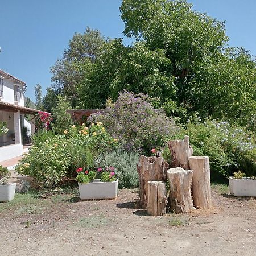
[[[194,9],[226,21],[230,46],[243,46],[256,55],[256,1],[188,0]],[[98,28],[110,38],[122,37],[120,0],[0,0],[0,69],[43,93],[51,85],[49,68],[61,57],[75,32]],[[129,40],[125,40],[129,43]]]

